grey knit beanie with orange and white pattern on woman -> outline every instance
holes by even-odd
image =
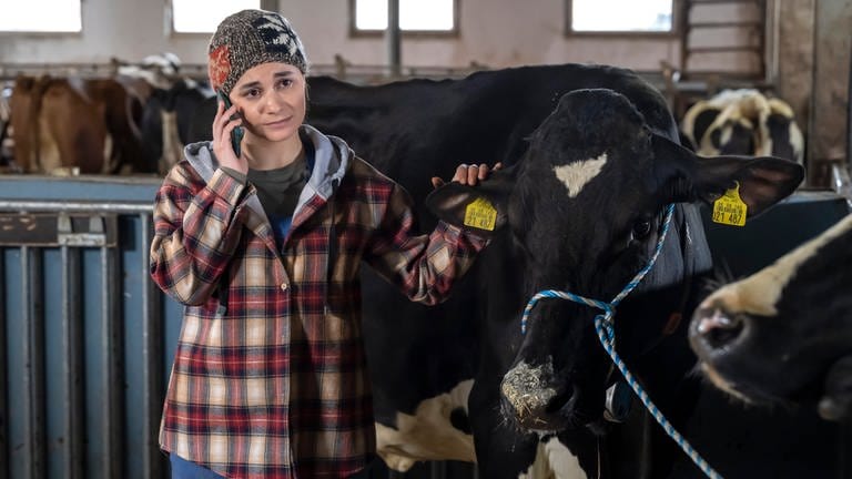
[[[243,73],[262,63],[288,63],[307,74],[302,40],[276,12],[243,10],[225,18],[210,39],[207,54],[210,85],[225,94]]]

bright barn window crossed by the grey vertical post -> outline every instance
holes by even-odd
[[[387,0],[351,0],[353,31],[387,29]],[[399,30],[419,33],[456,31],[457,0],[399,0]]]

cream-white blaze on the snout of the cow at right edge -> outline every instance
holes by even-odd
[[[708,296],[701,306],[711,307],[713,304],[723,304],[732,312],[761,316],[777,315],[775,305],[781,298],[781,292],[795,276],[799,267],[829,242],[851,228],[852,215],[849,215],[821,235],[778,258],[773,264],[746,279],[720,288]]]

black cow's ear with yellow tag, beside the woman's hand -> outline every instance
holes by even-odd
[[[429,193],[426,207],[446,223],[490,236],[508,223],[514,184],[513,174],[500,170],[477,186],[447,183]]]

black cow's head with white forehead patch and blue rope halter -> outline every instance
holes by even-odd
[[[532,134],[524,161],[494,176],[498,187],[450,184],[430,203],[438,216],[457,224],[457,205],[478,195],[507,205],[505,230],[520,263],[521,277],[514,278],[524,297],[515,310],[519,328],[526,299],[542,289],[612,299],[652,254],[667,204],[710,202],[739,182],[748,213],[755,215],[790,194],[802,175],[799,165],[778,159],[697,156],[652,132],[623,95],[579,90],[564,95]],[[683,212],[678,214],[682,221]],[[670,234],[657,266],[633,293],[645,298],[642,309],[676,309],[680,299],[681,248],[691,240],[683,230]],[[691,233],[703,242],[701,234]],[[611,366],[594,329],[598,313],[559,299],[535,307],[500,387],[505,412],[521,427],[552,431],[601,417]],[[646,322],[648,334],[657,334],[665,318],[651,313],[671,310],[637,313],[622,303],[617,330],[619,322]],[[619,349],[629,349],[635,338],[617,340]]]

